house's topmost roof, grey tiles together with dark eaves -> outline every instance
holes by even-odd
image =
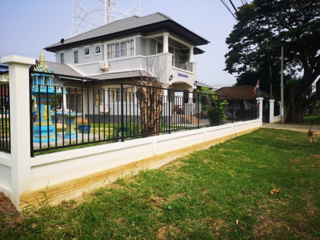
[[[92,41],[105,40],[112,37],[118,37],[125,34],[136,32],[151,32],[167,29],[183,38],[193,42],[195,46],[207,44],[210,41],[197,35],[193,31],[187,29],[171,17],[157,12],[146,16],[131,16],[117,21],[110,22],[103,26],[97,27],[93,30],[84,32],[82,34],[65,39],[63,43],[57,42],[55,44],[44,47],[47,51],[55,52],[56,49],[64,48],[72,45],[88,43]]]

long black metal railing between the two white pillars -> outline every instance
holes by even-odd
[[[247,107],[243,100],[219,96],[212,99],[195,92],[49,74],[73,78],[78,83],[72,83],[77,87],[34,85],[30,75],[31,155],[257,118],[256,108]],[[101,90],[97,83],[116,83],[118,87],[106,85]]]

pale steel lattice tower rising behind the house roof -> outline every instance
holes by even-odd
[[[79,0],[73,0],[71,37],[118,19],[141,16],[140,0],[130,2],[132,4],[127,7],[123,0],[94,0],[86,9]]]

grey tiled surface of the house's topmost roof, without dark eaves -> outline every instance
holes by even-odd
[[[93,30],[90,30],[90,31],[84,32],[82,34],[73,36],[71,38],[65,39],[63,44],[61,42],[57,42],[55,44],[44,47],[43,49],[55,47],[55,46],[60,46],[60,45],[65,45],[68,43],[82,41],[82,40],[86,40],[86,39],[90,39],[90,38],[94,38],[94,37],[99,37],[99,36],[103,36],[103,35],[108,35],[108,34],[112,34],[112,33],[116,33],[116,32],[121,32],[121,31],[129,30],[129,29],[133,29],[133,28],[137,28],[137,27],[141,27],[141,26],[146,26],[146,25],[150,25],[153,23],[161,22],[161,21],[167,21],[167,20],[173,21],[171,17],[169,17],[161,12],[157,12],[157,13],[150,14],[147,16],[142,16],[142,17],[131,16],[131,17],[127,17],[124,19],[110,22],[110,23],[105,24],[103,26],[97,27]],[[177,23],[176,21],[173,21],[173,22]],[[177,23],[177,24],[179,24],[179,23]],[[180,25],[180,26],[182,26],[182,25]],[[184,26],[182,26],[182,27],[185,28]],[[185,29],[187,29],[187,28],[185,28]],[[190,31],[190,32],[192,32],[192,31]],[[192,32],[192,33],[194,33],[194,32]],[[201,38],[203,38],[203,37],[201,37]],[[206,40],[206,39],[204,39],[204,40]],[[206,40],[206,41],[208,41],[208,40]]]

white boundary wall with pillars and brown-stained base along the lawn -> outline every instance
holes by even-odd
[[[35,203],[37,193],[45,190],[46,186],[52,202],[58,202],[80,195],[83,190],[101,186],[107,179],[115,179],[133,170],[159,167],[193,150],[205,149],[262,125],[260,117],[30,157],[27,66],[34,64],[34,59],[3,58],[1,62],[9,64],[10,74],[11,154],[0,152],[0,191],[12,200],[18,210],[26,205],[25,201]],[[260,105],[262,99],[257,99]],[[262,116],[262,107],[259,116]]]

